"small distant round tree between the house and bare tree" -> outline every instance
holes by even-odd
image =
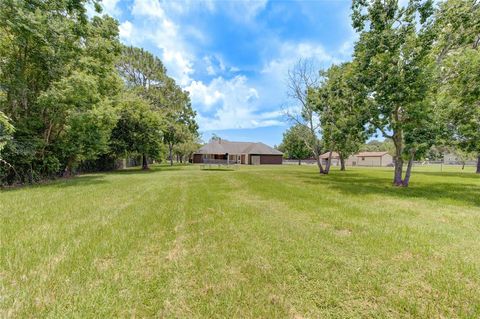
[[[283,133],[282,144],[278,149],[286,153],[288,158],[298,160],[298,165],[301,165],[302,159],[312,156],[312,151],[305,143],[309,138],[311,139],[310,130],[304,125],[296,124]]]

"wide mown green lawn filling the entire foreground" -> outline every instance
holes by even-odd
[[[467,170],[396,189],[391,169],[175,166],[3,190],[0,317],[478,318]]]

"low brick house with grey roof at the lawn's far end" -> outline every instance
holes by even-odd
[[[212,140],[193,154],[193,163],[282,164],[283,153],[263,143]]]

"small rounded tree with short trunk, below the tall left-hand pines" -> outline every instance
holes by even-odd
[[[148,157],[162,151],[163,119],[148,101],[135,94],[122,98],[118,121],[112,130],[110,146],[121,157],[142,156],[142,169],[148,170]]]

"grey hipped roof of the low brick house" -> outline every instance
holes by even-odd
[[[263,143],[230,142],[215,140],[203,145],[196,154],[257,154],[282,155],[283,153]]]

